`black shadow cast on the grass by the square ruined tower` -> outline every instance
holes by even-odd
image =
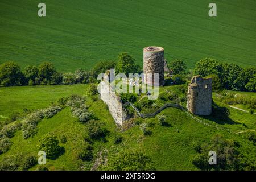
[[[216,122],[219,125],[224,125],[224,124],[241,125],[241,123],[235,122],[233,121],[233,119],[229,118],[229,114],[230,112],[228,108],[218,106],[215,102],[212,102],[212,114],[201,115],[200,117]]]

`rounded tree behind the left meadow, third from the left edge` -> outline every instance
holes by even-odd
[[[53,76],[54,73],[56,73],[56,69],[54,68],[52,63],[49,62],[44,62],[39,65],[39,77],[40,80],[43,81],[51,81],[51,77]]]

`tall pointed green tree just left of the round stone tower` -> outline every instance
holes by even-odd
[[[138,73],[139,65],[135,64],[133,57],[124,52],[119,54],[117,64],[115,65],[115,73]]]

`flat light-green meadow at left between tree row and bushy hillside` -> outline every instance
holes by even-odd
[[[0,88],[0,115],[9,117],[11,113],[26,109],[42,109],[61,97],[71,94],[86,94],[88,85],[37,85]],[[0,118],[1,120],[1,118]]]

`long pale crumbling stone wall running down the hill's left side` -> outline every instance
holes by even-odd
[[[110,87],[109,82],[106,80],[101,81],[101,100],[109,107],[109,112],[112,115],[115,123],[122,126],[123,121],[129,119],[127,111],[122,104],[121,97],[115,94],[114,90]]]

